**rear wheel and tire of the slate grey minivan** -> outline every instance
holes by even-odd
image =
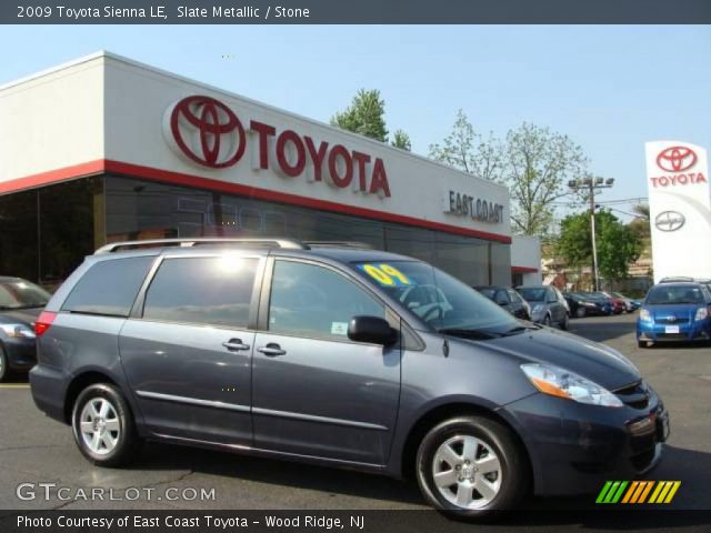
[[[81,391],[71,420],[79,451],[98,466],[128,464],[140,447],[131,410],[114,385],[94,383]]]

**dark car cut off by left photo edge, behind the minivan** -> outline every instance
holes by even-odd
[[[0,382],[34,365],[34,321],[50,298],[27,280],[0,276]]]

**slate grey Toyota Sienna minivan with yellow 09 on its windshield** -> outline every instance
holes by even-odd
[[[669,432],[617,351],[348,243],[108,245],[37,338],[37,405],[104,466],[142,440],[211,446],[412,475],[477,517],[645,472]]]

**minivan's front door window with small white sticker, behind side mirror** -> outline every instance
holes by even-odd
[[[356,315],[385,316],[382,303],[330,269],[277,261],[269,301],[269,331],[317,339],[348,339]]]

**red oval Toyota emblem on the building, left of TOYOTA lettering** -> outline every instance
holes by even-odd
[[[183,154],[211,169],[232,167],[244,154],[247,138],[240,119],[214,98],[180,100],[170,114],[170,131]]]

